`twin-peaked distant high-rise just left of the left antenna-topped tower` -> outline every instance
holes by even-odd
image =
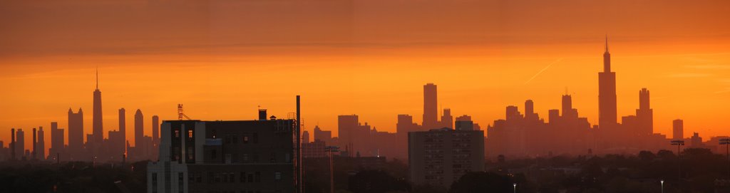
[[[82,160],[82,152],[84,150],[84,113],[79,109],[78,113],[74,113],[69,109],[69,146],[66,151],[69,152],[71,160]]]

